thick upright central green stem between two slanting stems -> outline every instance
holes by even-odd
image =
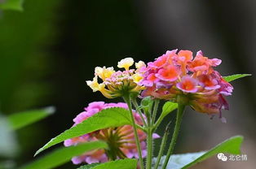
[[[156,99],[155,100],[155,104],[154,104],[154,109],[152,112],[152,118],[148,120],[148,139],[147,139],[147,165],[146,168],[147,169],[151,169],[152,168],[152,145],[153,145],[153,141],[152,141],[152,126],[154,124],[156,115],[157,115],[157,109],[158,109],[158,105],[159,105],[159,100]]]

